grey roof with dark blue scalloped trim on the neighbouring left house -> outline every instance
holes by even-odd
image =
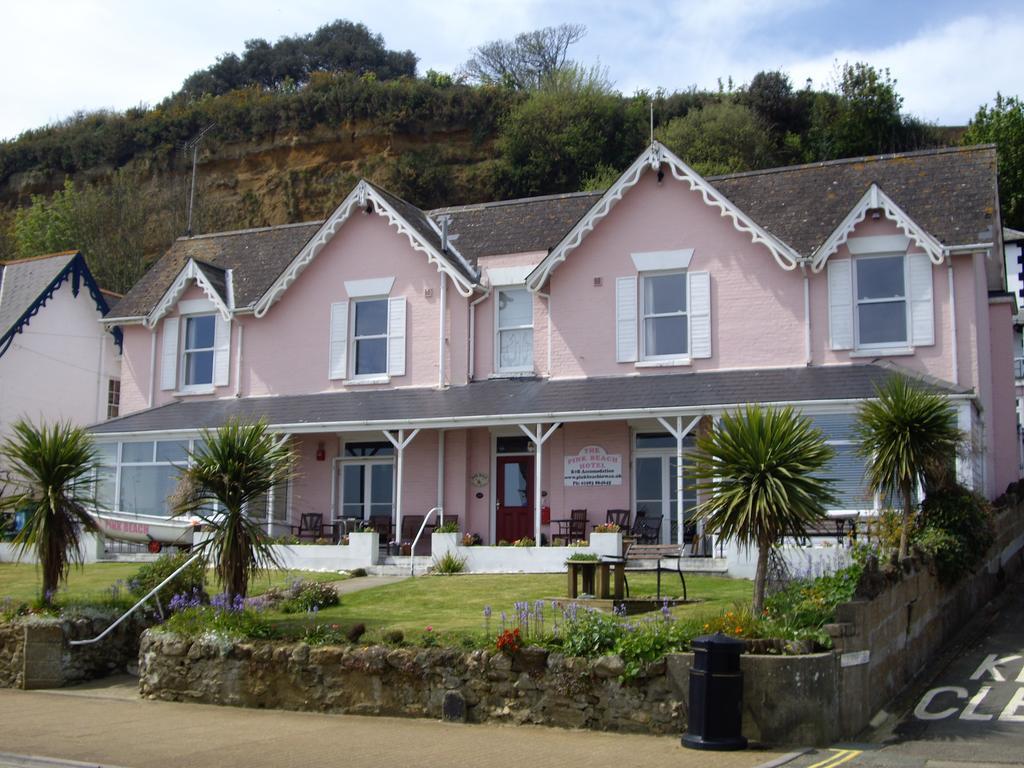
[[[106,297],[78,251],[0,262],[0,356],[66,281],[75,296],[86,288],[100,315],[108,313]],[[120,329],[114,338],[120,346]]]

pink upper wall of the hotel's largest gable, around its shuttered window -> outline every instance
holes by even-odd
[[[713,356],[670,369],[615,362],[615,279],[637,273],[630,254],[686,248],[693,249],[690,269],[711,272]],[[671,177],[658,184],[645,173],[554,271],[550,289],[556,378],[804,364],[800,273],[780,268]]]

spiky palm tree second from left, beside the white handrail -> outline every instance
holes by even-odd
[[[182,469],[183,490],[173,506],[210,525],[210,537],[200,545],[204,556],[213,561],[224,592],[231,599],[245,597],[252,577],[280,567],[269,537],[246,510],[288,480],[295,456],[287,440],[271,434],[263,421],[231,420],[202,436]]]

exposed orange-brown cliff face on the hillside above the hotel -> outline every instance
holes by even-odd
[[[421,206],[473,202],[488,195],[487,169],[495,157],[494,140],[477,140],[470,128],[396,133],[369,124],[344,125],[250,142],[218,141],[214,132],[201,146],[193,228],[202,232],[322,218],[360,177]],[[190,155],[151,154],[123,168],[152,202],[153,216],[176,220],[183,215]],[[76,184],[103,184],[115,170],[95,166],[72,178]],[[422,183],[428,174],[439,180],[430,188]],[[33,195],[49,196],[63,183],[57,173],[11,174],[0,182],[0,208],[28,205]]]

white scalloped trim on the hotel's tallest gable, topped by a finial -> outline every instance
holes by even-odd
[[[644,153],[634,161],[618,180],[615,181],[608,190],[601,196],[601,199],[587,212],[575,226],[562,238],[561,242],[555,246],[547,258],[538,265],[537,269],[530,272],[526,281],[526,287],[530,291],[540,291],[547,282],[551,272],[565,261],[565,257],[574,251],[590,232],[594,230],[597,223],[611,213],[611,209],[623,199],[626,191],[636,186],[641,176],[649,169],[656,171],[662,164],[669,167],[673,178],[678,181],[685,181],[691,190],[699,191],[705,203],[721,210],[721,215],[729,218],[732,225],[740,232],[751,236],[751,241],[760,243],[767,248],[775,261],[783,269],[796,269],[801,261],[800,254],[794,251],[782,241],[770,234],[766,229],[757,224],[745,213],[740,211],[718,189],[712,186],[705,178],[680,160],[676,155],[658,141],[654,141]]]

